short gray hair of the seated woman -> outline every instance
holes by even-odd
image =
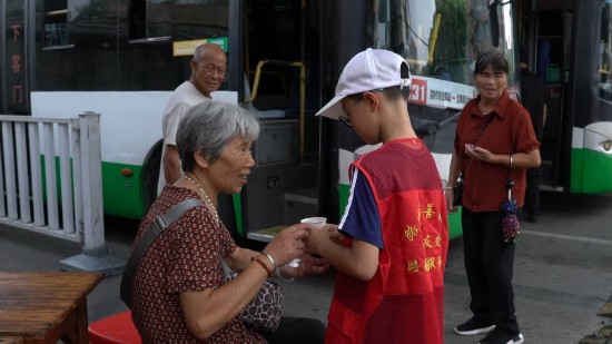
[[[194,154],[210,164],[236,137],[255,141],[259,136],[259,120],[243,108],[210,99],[193,107],[180,120],[177,130],[177,150],[182,170],[196,167]]]

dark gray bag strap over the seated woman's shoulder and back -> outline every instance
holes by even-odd
[[[175,220],[177,220],[185,212],[193,207],[204,206],[204,203],[196,198],[185,199],[176,204],[170,210],[155,217],[149,228],[145,232],[126,264],[124,277],[121,278],[120,296],[124,303],[131,308],[131,289],[134,286],[134,277],[140,259],[149,249],[152,242],[164,233]]]

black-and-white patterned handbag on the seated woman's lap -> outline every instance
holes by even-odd
[[[227,271],[227,265],[224,271]],[[228,272],[225,281],[229,282],[238,276],[236,272]],[[245,325],[255,331],[275,332],[280,324],[280,317],[285,309],[285,291],[274,279],[268,278],[255,295],[248,306],[240,312],[240,320]]]

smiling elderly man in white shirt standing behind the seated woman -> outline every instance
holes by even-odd
[[[227,56],[215,43],[205,43],[196,48],[190,61],[191,78],[175,89],[164,110],[164,147],[157,193],[167,184],[175,183],[181,176],[180,161],[176,147],[178,124],[187,111],[218,90],[227,71]]]

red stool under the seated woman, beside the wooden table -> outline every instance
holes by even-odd
[[[90,344],[140,344],[131,312],[118,313],[89,324]]]

